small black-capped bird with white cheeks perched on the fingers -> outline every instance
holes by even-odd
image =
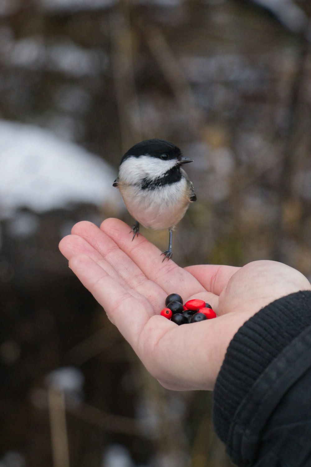
[[[124,204],[135,219],[132,241],[139,224],[151,229],[169,229],[169,248],[162,255],[172,257],[172,234],[196,193],[182,165],[193,162],[183,157],[169,141],[151,139],[135,144],[122,157],[113,186],[119,188]]]

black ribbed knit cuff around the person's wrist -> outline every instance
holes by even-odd
[[[254,382],[309,325],[311,291],[301,291],[265,306],[237,331],[227,349],[214,390],[214,427],[224,443],[236,410]]]

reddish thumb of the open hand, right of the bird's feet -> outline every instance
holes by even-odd
[[[196,280],[203,285],[204,289],[219,296],[230,278],[241,268],[216,264],[198,264],[187,266],[184,269],[196,277]]]

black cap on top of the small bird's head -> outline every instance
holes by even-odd
[[[151,157],[161,158],[162,154],[167,154],[168,159],[181,158],[182,152],[177,146],[166,140],[152,139],[144,140],[135,144],[132,148],[124,154],[122,162],[130,156],[140,157],[149,154]]]

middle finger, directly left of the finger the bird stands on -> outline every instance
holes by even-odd
[[[156,312],[163,308],[166,292],[158,284],[150,281],[107,234],[92,222],[82,221],[73,226],[72,235],[88,243],[84,253],[92,251],[90,257],[110,276],[115,279],[120,277],[128,287],[141,293]]]

